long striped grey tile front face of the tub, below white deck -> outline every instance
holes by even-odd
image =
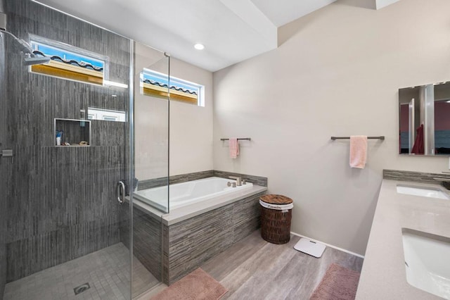
[[[257,230],[260,227],[259,197],[262,194],[264,192],[179,223],[163,224],[163,282],[172,285]]]

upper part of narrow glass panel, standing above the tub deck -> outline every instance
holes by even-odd
[[[134,199],[168,213],[169,56],[135,44],[134,158],[139,189]]]

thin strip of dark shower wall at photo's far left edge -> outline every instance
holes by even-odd
[[[6,149],[8,146],[8,135],[5,130],[6,116],[8,111],[6,108],[6,84],[4,78],[5,74],[5,51],[4,51],[4,37],[0,37],[0,151]],[[1,190],[4,196],[0,197],[0,299],[3,299],[4,288],[6,284],[6,216],[7,203],[6,199],[11,194],[11,159],[0,157],[0,182]]]

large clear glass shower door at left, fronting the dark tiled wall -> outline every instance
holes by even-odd
[[[26,66],[1,35],[0,151],[13,156],[0,157],[0,299],[130,299],[129,205],[116,196],[129,174],[129,120],[86,113],[129,112],[131,41],[34,1],[2,2],[19,39],[105,64],[100,72],[61,53]]]

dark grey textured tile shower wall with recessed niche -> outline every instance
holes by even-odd
[[[109,79],[128,83],[129,39],[28,0],[7,0],[6,11],[18,37],[39,35],[108,56]],[[13,190],[2,201],[11,282],[120,241],[115,185],[126,176],[127,123],[93,120],[91,146],[55,147],[53,118],[77,119],[88,106],[127,111],[129,96],[128,89],[28,73],[10,39],[6,70],[2,99],[15,156]]]

